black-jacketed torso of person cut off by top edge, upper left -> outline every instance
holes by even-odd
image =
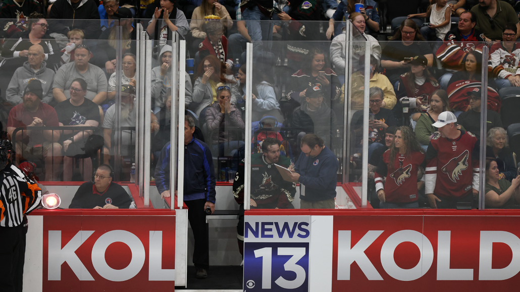
[[[49,29],[67,35],[72,29],[80,29],[85,39],[97,39],[101,34],[98,7],[94,0],[57,0],[49,12]],[[95,20],[98,21],[95,21]]]

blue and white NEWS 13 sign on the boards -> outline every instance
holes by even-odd
[[[245,216],[244,291],[308,291],[309,216]]]

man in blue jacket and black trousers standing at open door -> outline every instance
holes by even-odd
[[[206,143],[193,137],[195,122],[191,116],[184,118],[184,203],[188,207],[195,248],[193,264],[196,277],[207,277],[210,266],[209,235],[206,225],[206,208],[215,211],[215,170],[213,157]],[[161,150],[155,166],[155,185],[161,198],[171,196],[170,190],[170,142]]]

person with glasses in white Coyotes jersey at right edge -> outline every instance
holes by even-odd
[[[497,76],[495,82],[498,89],[502,87],[520,86],[520,46],[516,44],[516,25],[507,23],[502,33],[502,42],[495,43],[489,49],[489,59],[493,68],[493,76]]]

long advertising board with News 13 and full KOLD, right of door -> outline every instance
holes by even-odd
[[[326,235],[319,215],[245,216],[244,291],[518,290],[519,216],[350,214]],[[317,277],[309,261],[328,246]]]

